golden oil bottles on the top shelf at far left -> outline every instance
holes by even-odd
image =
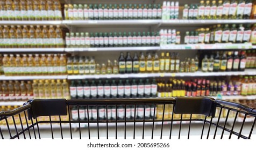
[[[1,20],[62,20],[59,0],[2,0]]]

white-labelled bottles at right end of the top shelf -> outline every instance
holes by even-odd
[[[200,1],[184,5],[183,19],[250,19],[252,0]]]

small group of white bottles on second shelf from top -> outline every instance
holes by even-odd
[[[180,32],[176,29],[161,29],[160,30],[160,45],[166,44],[180,44],[181,36]]]

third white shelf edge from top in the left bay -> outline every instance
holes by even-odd
[[[0,76],[0,80],[67,79],[67,76]]]

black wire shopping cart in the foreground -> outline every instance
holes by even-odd
[[[0,112],[0,133],[2,139],[251,139],[255,121],[255,108],[210,97],[35,99]]]

